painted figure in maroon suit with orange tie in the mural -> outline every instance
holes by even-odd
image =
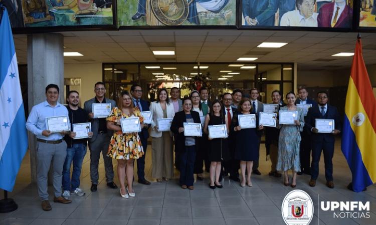
[[[346,0],[334,0],[323,4],[317,16],[318,27],[351,27],[352,8]]]

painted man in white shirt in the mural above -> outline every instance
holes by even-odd
[[[316,0],[296,0],[297,10],[282,15],[281,26],[316,26],[317,12],[314,12]]]

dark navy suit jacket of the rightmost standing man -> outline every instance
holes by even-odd
[[[335,137],[332,133],[313,133],[312,127],[315,127],[316,118],[334,119],[335,129],[341,130],[341,119],[338,110],[335,106],[327,105],[325,116],[321,115],[321,111],[318,105],[312,106],[308,109],[308,114],[305,118],[304,126],[307,128],[308,133],[311,135],[311,141],[314,142],[334,142]]]

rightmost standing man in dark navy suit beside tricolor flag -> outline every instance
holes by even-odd
[[[332,158],[334,153],[334,135],[337,135],[341,132],[341,120],[337,108],[327,103],[328,99],[328,94],[325,91],[320,91],[317,93],[318,106],[315,105],[309,108],[305,120],[305,126],[308,128],[311,134],[312,143],[311,180],[309,181],[309,185],[316,185],[316,179],[318,176],[318,163],[320,161],[321,150],[323,150],[326,185],[329,188],[333,188],[334,183]],[[315,127],[316,118],[334,119],[335,128],[331,133],[319,133],[319,130]]]

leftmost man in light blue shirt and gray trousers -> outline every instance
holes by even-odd
[[[67,143],[63,141],[63,138],[69,130],[68,110],[58,102],[58,85],[47,85],[46,98],[46,101],[33,106],[26,122],[26,128],[37,136],[38,194],[42,200],[42,209],[48,211],[51,210],[51,204],[48,200],[47,177],[51,162],[53,162],[54,201],[71,203],[72,200],[65,199],[61,190],[63,165],[67,155]],[[65,131],[50,130],[48,128],[48,117],[56,118],[54,121],[56,130]],[[57,126],[60,126],[60,128]]]

